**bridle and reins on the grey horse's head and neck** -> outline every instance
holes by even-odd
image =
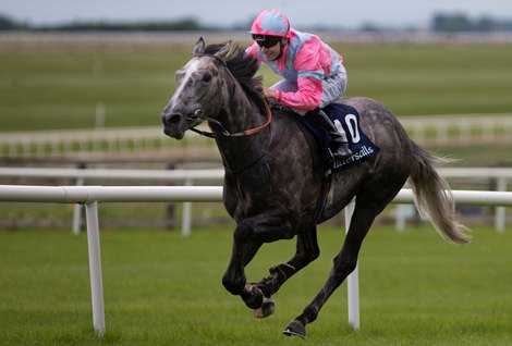
[[[228,64],[225,63],[225,61],[222,58],[220,58],[218,55],[215,55],[215,54],[207,54],[207,53],[198,53],[198,54],[194,54],[194,57],[210,57],[210,58],[217,59],[225,67],[225,70],[228,71],[228,74],[233,79],[233,83],[235,83],[234,76],[231,74],[231,71],[229,70]],[[234,89],[233,89],[233,91],[234,91]],[[267,114],[267,122],[263,125],[259,125],[259,126],[256,126],[256,127],[253,127],[253,128],[249,128],[249,129],[245,129],[245,131],[242,131],[242,132],[237,132],[237,133],[230,133],[229,131],[227,131],[224,128],[222,123],[219,122],[217,119],[208,116],[208,115],[203,113],[202,109],[197,109],[194,112],[193,115],[187,118],[188,120],[193,120],[193,121],[202,120],[202,121],[207,121],[209,123],[217,124],[221,128],[221,132],[206,132],[206,131],[197,129],[195,127],[191,127],[190,129],[197,133],[197,134],[199,134],[199,135],[202,135],[202,136],[209,137],[209,138],[218,138],[218,137],[221,137],[221,136],[222,137],[243,137],[243,136],[254,135],[254,134],[260,132],[261,129],[264,129],[265,127],[269,126],[270,123],[272,122],[272,112],[270,111],[270,107],[268,106],[268,102],[265,98],[263,99],[263,101],[264,101],[264,106],[265,106],[265,112]]]

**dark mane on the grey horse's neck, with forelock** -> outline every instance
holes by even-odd
[[[209,45],[205,48],[205,53],[215,54],[224,44]],[[263,81],[256,77],[259,63],[256,58],[245,53],[240,46],[235,46],[224,58],[225,65],[233,77],[240,83],[247,96],[255,100],[263,101]]]

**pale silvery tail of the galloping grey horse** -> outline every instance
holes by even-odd
[[[414,203],[419,213],[431,222],[447,242],[470,243],[471,231],[456,220],[455,202],[450,186],[435,169],[452,160],[437,157],[415,143],[413,143],[413,156],[415,161],[410,183],[414,193]]]

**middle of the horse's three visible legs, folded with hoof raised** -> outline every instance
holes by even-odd
[[[254,310],[254,316],[263,319],[272,314],[275,302],[271,296],[279,291],[285,281],[317,259],[319,255],[316,226],[298,233],[295,256],[287,263],[272,265],[269,269],[270,275],[256,283],[264,294],[264,304]]]

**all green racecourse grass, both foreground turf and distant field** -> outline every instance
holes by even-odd
[[[98,102],[106,126],[159,125],[174,71],[193,42],[145,51],[0,49],[0,132],[94,127]],[[345,57],[348,95],[386,103],[399,116],[510,113],[510,45],[333,44]],[[264,69],[265,83],[278,78]],[[451,148],[472,163],[510,161],[510,148]],[[23,207],[23,206],[22,206]],[[66,218],[71,207],[0,217]],[[100,210],[103,217],[161,218],[163,208]],[[48,217],[49,215],[49,217]],[[50,220],[51,221],[51,220]],[[342,231],[320,231],[320,259],[276,296],[259,321],[221,285],[231,230],[178,232],[102,227],[107,334],[93,332],[85,235],[66,230],[0,232],[0,345],[296,345],[281,330],[316,295],[341,247]],[[475,226],[474,240],[450,246],[429,227],[397,234],[378,227],[361,256],[361,321],[346,322],[339,288],[307,329],[308,345],[511,345],[512,230]],[[294,242],[263,248],[247,269],[257,281],[288,260]]]

